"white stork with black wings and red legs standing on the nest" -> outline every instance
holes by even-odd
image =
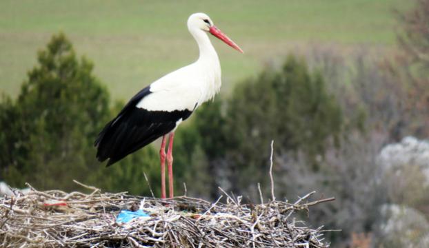
[[[221,32],[207,14],[191,14],[188,30],[197,41],[199,58],[194,63],[154,81],[123,107],[123,110],[100,132],[94,146],[99,161],[109,159],[107,166],[152,143],[162,136],[161,198],[166,198],[165,160],[168,162],[168,186],[173,194],[172,145],[174,130],[199,105],[212,99],[221,87],[221,65],[207,33],[243,52]],[[169,134],[166,157],[166,136]]]

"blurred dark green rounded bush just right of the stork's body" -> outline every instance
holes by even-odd
[[[276,152],[305,153],[313,169],[325,146],[338,141],[342,114],[335,97],[321,74],[295,56],[288,56],[281,70],[267,69],[239,84],[231,95],[206,105],[195,125],[210,174],[227,180],[223,185],[237,194],[257,196],[255,185],[268,178],[272,139]]]

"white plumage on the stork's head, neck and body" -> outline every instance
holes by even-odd
[[[150,85],[150,92],[154,94],[141,99],[137,107],[146,110],[192,111],[196,105],[212,99],[219,92],[221,65],[208,39],[208,30],[203,30],[199,25],[203,19],[210,20],[203,13],[192,14],[188,19],[188,30],[199,46],[199,59],[154,81]]]

